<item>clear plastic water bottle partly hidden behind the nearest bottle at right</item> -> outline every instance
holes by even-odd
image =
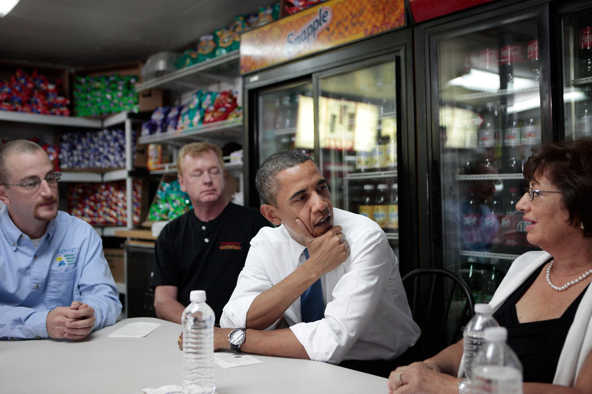
[[[464,338],[464,367],[465,376],[471,379],[471,365],[483,344],[483,331],[487,327],[498,326],[496,319],[491,315],[491,306],[488,304],[475,304],[475,315],[462,332]]]

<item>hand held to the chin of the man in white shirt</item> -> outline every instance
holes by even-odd
[[[314,263],[318,277],[333,271],[349,256],[349,242],[345,239],[341,226],[333,226],[321,236],[314,237],[308,231],[302,220],[296,219],[300,231],[304,236],[304,242],[308,248],[308,261]]]

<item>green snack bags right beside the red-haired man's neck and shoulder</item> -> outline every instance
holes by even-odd
[[[165,175],[156,191],[147,220],[169,220],[179,217],[192,208],[187,193],[181,190],[181,185],[175,177]]]

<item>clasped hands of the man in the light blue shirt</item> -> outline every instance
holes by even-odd
[[[46,318],[47,334],[55,339],[81,340],[88,336],[95,324],[95,310],[81,301],[69,307],[57,307]]]

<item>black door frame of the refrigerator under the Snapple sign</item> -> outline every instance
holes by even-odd
[[[259,167],[259,143],[257,103],[260,92],[279,88],[296,80],[310,78],[313,82],[313,99],[318,102],[318,76],[334,73],[342,67],[354,67],[368,61],[368,65],[380,63],[375,61],[382,56],[399,58],[398,79],[400,80],[400,97],[398,97],[398,182],[405,187],[399,189],[400,228],[406,229],[405,235],[399,239],[401,275],[419,267],[419,211],[416,193],[417,157],[416,157],[416,119],[415,119],[415,86],[413,65],[413,35],[410,27],[392,32],[385,32],[367,40],[329,50],[316,56],[304,58],[272,69],[253,72],[243,76],[244,104],[244,196],[245,206],[259,207],[259,196],[255,189],[255,174]],[[315,85],[315,82],[317,85]],[[264,90],[265,89],[265,90]],[[318,116],[316,114],[315,116]],[[400,120],[399,120],[400,119]],[[318,119],[315,119],[318,127]],[[318,132],[316,133],[318,139]],[[318,141],[315,148],[318,157]]]

